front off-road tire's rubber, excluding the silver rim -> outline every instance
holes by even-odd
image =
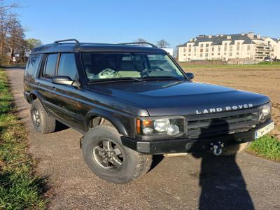
[[[100,165],[94,159],[93,151],[98,141],[108,139],[116,144],[123,152],[123,164],[116,171],[110,172]],[[91,128],[83,137],[82,151],[85,162],[88,167],[97,174],[99,178],[111,183],[128,183],[139,179],[151,168],[152,155],[138,153],[130,148],[123,146],[120,140],[120,134],[115,127],[110,125],[97,125]]]

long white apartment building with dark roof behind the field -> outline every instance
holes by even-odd
[[[179,47],[179,62],[192,60],[280,59],[280,40],[247,34],[200,35]]]

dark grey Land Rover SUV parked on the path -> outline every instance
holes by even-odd
[[[88,167],[113,183],[146,174],[152,155],[220,155],[273,129],[268,97],[195,83],[165,50],[141,44],[34,48],[24,78],[34,129],[54,132],[59,121],[81,132]]]

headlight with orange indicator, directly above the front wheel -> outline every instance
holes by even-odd
[[[144,136],[180,136],[185,132],[183,116],[151,117],[137,119],[137,134]]]

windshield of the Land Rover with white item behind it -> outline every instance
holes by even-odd
[[[81,57],[89,82],[122,78],[185,78],[166,54],[83,52]]]

